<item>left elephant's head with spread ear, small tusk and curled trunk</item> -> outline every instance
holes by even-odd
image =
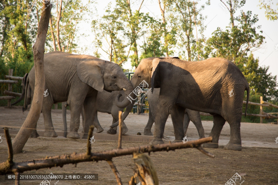
[[[113,62],[103,61],[96,57],[88,58],[77,65],[77,74],[82,82],[98,91],[124,90],[126,96],[133,91],[133,86],[123,70]],[[129,104],[128,99],[124,99],[122,102],[116,99],[116,105],[120,108]]]

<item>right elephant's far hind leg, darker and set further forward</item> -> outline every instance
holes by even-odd
[[[218,141],[221,130],[225,124],[226,120],[219,114],[213,115],[213,128],[209,136],[213,137],[212,142],[204,143],[202,146],[205,148],[218,148]]]

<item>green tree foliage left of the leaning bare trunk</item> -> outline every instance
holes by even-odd
[[[13,69],[13,76],[27,73],[33,65],[32,43],[36,38],[36,17],[32,1],[0,1],[0,79]],[[0,84],[0,96],[7,89]],[[21,92],[20,83],[12,86]],[[6,104],[6,101],[1,101]]]

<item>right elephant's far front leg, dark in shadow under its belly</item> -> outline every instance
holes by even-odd
[[[180,107],[178,105],[174,105],[171,111],[171,117],[173,121],[174,132],[175,132],[174,142],[182,142],[184,137],[184,132],[183,132],[184,111],[185,108]]]

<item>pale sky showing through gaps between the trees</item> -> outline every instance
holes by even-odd
[[[116,4],[115,0],[95,0],[97,3],[93,5],[93,12],[95,9],[99,16],[102,16],[105,13],[105,9],[109,2],[113,5]],[[87,3],[87,0],[82,0],[83,3]],[[141,4],[142,0],[130,0],[132,9],[138,9],[139,4]],[[201,0],[199,4],[205,4],[205,0]],[[274,4],[278,2],[277,0],[273,0]],[[257,31],[262,31],[262,35],[265,37],[264,44],[256,51],[253,52],[255,58],[259,58],[260,66],[270,66],[268,72],[272,75],[277,75],[278,77],[278,20],[270,21],[267,20],[264,14],[263,9],[259,9],[257,6],[259,4],[259,0],[246,0],[246,4],[241,7],[241,9],[246,11],[252,11],[252,15],[257,14],[259,21],[257,22],[258,26],[261,26]],[[277,6],[274,6],[277,9]],[[153,17],[161,19],[161,12],[158,6],[158,0],[144,0],[143,5],[141,7],[140,12],[147,13]],[[77,27],[77,35],[79,35],[79,39],[77,40],[77,44],[84,48],[81,53],[78,54],[90,54],[93,55],[92,50],[90,50],[90,46],[94,40],[94,35],[92,33],[91,21],[95,19],[95,14],[87,15],[88,20],[82,21],[78,24]],[[240,10],[236,12],[236,15],[239,15]],[[211,37],[213,31],[220,27],[221,29],[225,29],[225,27],[229,26],[230,22],[230,13],[227,12],[227,9],[221,7],[220,0],[211,0],[211,4],[209,6],[205,6],[205,9],[201,11],[203,16],[207,18],[204,20],[204,25],[206,25],[206,30],[204,31],[204,36],[206,39]],[[195,34],[196,35],[196,34]],[[179,48],[176,48],[176,53],[179,51]],[[82,53],[84,52],[84,53]],[[100,52],[100,58],[107,60],[108,56],[104,52]],[[140,53],[139,53],[140,54]],[[128,61],[123,65],[124,69],[133,69],[131,67],[131,62]]]

